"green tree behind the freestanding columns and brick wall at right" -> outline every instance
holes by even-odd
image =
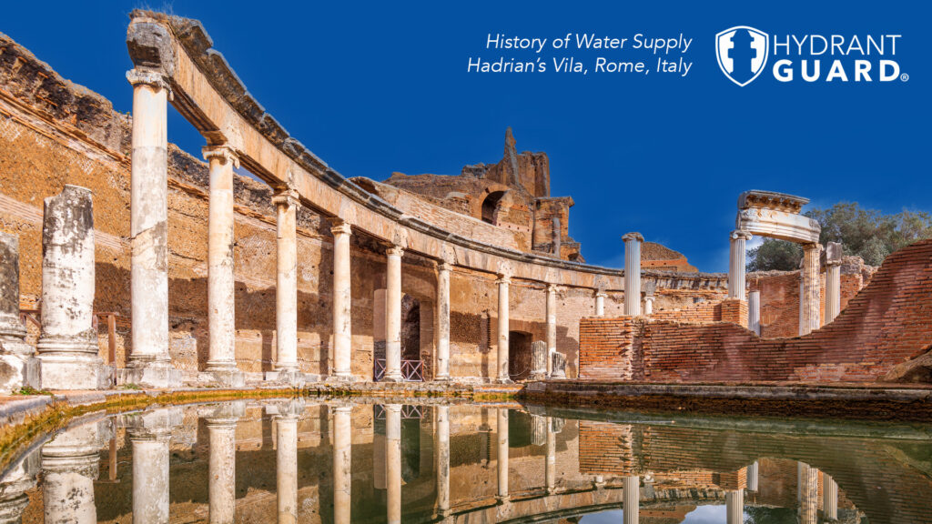
[[[914,241],[932,238],[932,215],[903,210],[883,214],[862,209],[857,202],[839,202],[828,209],[811,209],[804,213],[822,226],[819,242],[842,242],[844,255],[857,255],[871,266],[879,266],[887,255]],[[802,249],[788,241],[764,239],[750,250],[747,269],[799,269]]]

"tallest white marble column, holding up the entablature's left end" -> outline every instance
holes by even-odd
[[[168,82],[133,69],[130,176],[132,345],[117,383],[170,388],[181,383],[169,355]]]

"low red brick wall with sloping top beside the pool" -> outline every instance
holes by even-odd
[[[875,381],[932,349],[932,240],[890,255],[835,322],[806,336],[761,339],[743,301],[685,317],[584,318],[581,379]],[[674,320],[667,320],[674,317]],[[690,318],[690,317],[695,317]],[[684,323],[682,321],[686,321]],[[729,322],[731,321],[731,322]]]

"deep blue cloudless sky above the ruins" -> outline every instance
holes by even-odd
[[[133,7],[202,21],[267,110],[346,176],[456,174],[500,159],[512,126],[519,150],[550,156],[552,193],[576,201],[570,234],[592,263],[620,267],[621,236],[637,230],[699,269],[724,271],[735,200],[749,188],[820,206],[856,200],[889,213],[932,211],[932,9],[923,2],[16,2],[0,31],[127,111]],[[895,58],[910,79],[779,84],[771,57],[739,88],[714,52],[714,35],[733,25],[902,34]],[[470,56],[501,54],[484,49],[488,33],[569,32],[683,33],[693,38],[686,58],[694,63],[685,78],[466,71]],[[654,64],[643,51],[572,54]],[[169,140],[199,154],[193,128],[173,110],[169,123]]]

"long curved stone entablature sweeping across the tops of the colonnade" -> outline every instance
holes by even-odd
[[[276,189],[294,189],[302,204],[320,214],[382,241],[392,241],[398,229],[404,229],[408,251],[438,261],[450,258],[452,251],[455,263],[470,269],[497,273],[507,264],[518,279],[548,282],[548,275],[555,275],[552,283],[595,288],[596,278],[601,277],[606,289],[624,289],[623,269],[525,253],[405,215],[290,136],[212,48],[199,21],[141,10],[130,16],[127,45],[136,69],[161,76],[171,89],[171,103],[210,145],[228,145],[244,168]],[[708,275],[704,278],[708,280]]]

